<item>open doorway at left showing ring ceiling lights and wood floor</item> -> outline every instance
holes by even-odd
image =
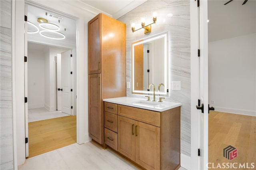
[[[42,22],[40,23],[38,22],[38,20],[39,18],[41,18],[40,20],[45,19],[47,23],[58,23],[55,25],[58,26],[60,29],[58,31],[50,30],[49,34],[43,34],[43,36],[41,32],[39,32],[40,34],[28,34],[28,49],[30,49],[30,51],[28,51],[28,76],[32,75],[32,78],[28,77],[28,110],[35,109],[35,107],[37,107],[36,109],[39,109],[39,110],[41,109],[41,113],[39,113],[40,115],[39,117],[41,117],[42,119],[51,118],[43,121],[41,119],[41,121],[39,121],[40,123],[37,125],[35,122],[30,122],[28,120],[28,122],[30,122],[28,123],[28,131],[30,136],[30,140],[29,140],[30,142],[28,143],[28,145],[29,145],[29,152],[30,152],[30,150],[33,148],[38,149],[39,147],[38,145],[36,147],[33,147],[31,144],[32,142],[35,141],[34,140],[35,138],[39,140],[42,139],[42,135],[44,135],[42,131],[45,129],[47,134],[56,132],[58,130],[61,131],[62,132],[61,136],[58,138],[60,141],[64,141],[64,140],[68,141],[68,139],[65,138],[65,134],[68,134],[69,136],[72,136],[70,138],[72,139],[73,143],[76,142],[76,98],[75,98],[76,97],[76,52],[75,52],[76,51],[76,26],[72,30],[70,29],[70,26],[68,26],[69,24],[71,26],[76,25],[76,20],[69,19],[66,16],[55,13],[54,11],[41,9],[39,7],[32,6],[32,5],[27,5],[27,6],[28,6],[28,23],[31,22],[36,26],[38,25],[38,28],[40,28],[41,31],[52,29],[52,28],[46,29],[44,27],[42,28],[41,26],[39,26]],[[56,19],[56,17],[58,18]],[[62,22],[60,22],[60,20]],[[33,28],[28,26],[28,32],[30,33],[34,32]],[[52,34],[55,34],[55,32],[59,32],[63,34],[64,36],[66,36],[66,39],[58,40],[58,36],[52,35]],[[41,51],[39,50],[40,48],[42,48]],[[31,49],[33,49],[34,51]],[[36,50],[37,52],[35,52]],[[69,59],[64,59],[65,58],[64,55],[66,54],[66,51],[70,53],[68,56]],[[58,70],[56,67],[57,66],[56,57],[58,55],[62,55],[63,57],[63,59],[61,59],[62,61],[61,66],[63,66],[62,67],[63,69],[61,70],[62,73],[60,75],[65,74],[63,76],[64,78],[61,77],[61,80],[62,80],[61,87],[60,85],[58,85],[56,81],[57,79],[56,75],[58,75],[57,74]],[[39,61],[37,60],[38,58],[40,58]],[[63,63],[63,61],[68,61],[68,62]],[[30,65],[30,62],[32,62],[33,64]],[[63,64],[66,64],[66,65],[63,65]],[[34,67],[35,70],[30,70],[31,69],[30,66],[32,68]],[[42,77],[38,76],[36,74],[36,71],[40,72],[41,74],[43,73],[43,76]],[[41,81],[41,83],[36,82],[36,80]],[[26,84],[26,81],[25,81],[25,84]],[[32,91],[32,89],[34,91]],[[58,89],[64,89],[62,90],[62,93],[61,93],[61,96],[62,96],[61,109],[58,109],[57,107]],[[40,93],[40,95],[37,94],[38,92]],[[63,95],[63,93],[65,95]],[[40,102],[38,102],[38,100]],[[45,114],[42,113],[42,109],[43,109],[43,112],[45,111],[44,112]],[[57,111],[57,110],[61,110],[61,111]],[[25,115],[26,114],[28,114],[28,118],[29,118],[30,113],[29,112],[26,113],[26,109],[25,109]],[[46,114],[48,116],[44,117],[44,115]],[[72,116],[69,116],[69,115],[72,115]],[[59,118],[56,118],[56,117],[59,117]],[[38,121],[36,122],[38,123]],[[67,123],[67,124],[63,125],[63,123]],[[57,126],[58,124],[60,124],[59,127]],[[62,130],[62,127],[68,127],[68,125],[72,125],[72,128],[70,127],[65,129],[69,129],[69,130],[73,129],[72,134],[70,134],[71,133],[70,131]],[[54,128],[49,128],[52,126],[54,126]],[[40,127],[40,130],[39,129],[35,130],[36,128],[39,128],[39,127]],[[56,134],[53,133],[52,139],[51,137],[48,136],[47,141],[52,141],[53,145],[56,145],[56,143],[54,142],[56,142],[57,140],[55,138],[57,134],[59,133],[58,132]],[[43,142],[43,143],[46,143],[46,142]],[[66,144],[72,144],[72,143],[66,142]],[[46,148],[45,144],[41,144],[41,145],[43,148]],[[48,143],[47,146],[49,145],[50,144]],[[32,147],[30,148],[30,146]],[[63,147],[63,145],[61,144],[60,147]],[[50,147],[50,148],[52,148],[53,150],[56,149],[54,147]],[[46,150],[46,152],[48,151],[50,150]]]

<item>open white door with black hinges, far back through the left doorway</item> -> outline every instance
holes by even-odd
[[[72,51],[61,53],[62,112],[71,115],[71,57]]]

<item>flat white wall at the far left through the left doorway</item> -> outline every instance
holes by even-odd
[[[44,107],[44,51],[28,43],[28,109]]]

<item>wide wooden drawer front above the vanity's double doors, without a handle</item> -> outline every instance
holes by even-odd
[[[160,112],[118,105],[118,115],[160,127]]]

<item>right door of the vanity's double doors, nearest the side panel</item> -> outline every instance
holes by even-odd
[[[160,169],[160,127],[136,121],[136,163],[146,169]]]

